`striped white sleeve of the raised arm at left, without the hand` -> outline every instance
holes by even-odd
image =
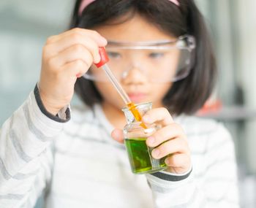
[[[39,103],[36,87],[1,128],[1,207],[33,207],[50,181],[53,166],[50,145],[64,125],[61,121],[68,118],[61,113],[59,122],[48,118],[42,113],[43,108],[39,109]]]

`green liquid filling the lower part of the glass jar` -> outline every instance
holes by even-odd
[[[152,158],[146,138],[124,139],[133,173],[153,173],[165,169],[165,158]]]

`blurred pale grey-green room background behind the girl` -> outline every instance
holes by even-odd
[[[0,126],[34,89],[42,47],[48,36],[68,28],[73,4],[73,0],[0,1]],[[206,18],[219,69],[217,88],[200,116],[220,120],[230,130],[236,144],[241,207],[256,207],[256,1],[197,0],[197,4]]]

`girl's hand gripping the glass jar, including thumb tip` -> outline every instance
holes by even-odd
[[[167,171],[176,174],[188,172],[191,168],[190,150],[184,130],[165,108],[151,109],[143,116],[143,123],[160,123],[162,128],[146,139],[148,147],[154,147],[152,156],[156,159],[163,158],[168,168]],[[112,132],[112,137],[118,142],[123,142],[123,134],[119,129]]]

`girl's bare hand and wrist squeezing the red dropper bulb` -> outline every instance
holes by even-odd
[[[74,28],[50,36],[42,51],[39,94],[48,112],[56,115],[69,104],[75,81],[92,63],[99,63],[99,47],[107,45],[96,31]]]

